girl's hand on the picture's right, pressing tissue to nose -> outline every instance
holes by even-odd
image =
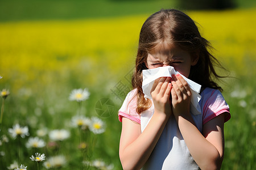
[[[175,116],[185,116],[190,111],[190,87],[180,74],[172,75],[171,83],[172,112]]]

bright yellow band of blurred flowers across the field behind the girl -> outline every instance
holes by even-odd
[[[201,25],[222,61],[232,60],[242,68],[243,57],[256,54],[254,9],[188,14]],[[38,71],[63,75],[67,70],[101,65],[100,72],[119,73],[123,65],[133,66],[139,29],[146,17],[0,23],[0,73],[12,79],[16,72],[16,86],[35,80]]]

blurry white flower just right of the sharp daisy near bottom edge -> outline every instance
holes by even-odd
[[[44,167],[49,168],[61,168],[67,164],[67,160],[63,155],[52,156],[46,162],[44,162]]]

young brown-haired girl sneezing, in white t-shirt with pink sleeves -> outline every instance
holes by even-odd
[[[132,79],[134,90],[118,113],[123,169],[220,169],[224,122],[230,113],[221,87],[213,81],[220,76],[214,71],[218,61],[209,47],[193,20],[181,11],[160,10],[144,22]],[[201,84],[200,114],[190,113],[191,90],[179,74],[156,79],[152,100],[144,98],[142,70],[164,66],[173,66]]]

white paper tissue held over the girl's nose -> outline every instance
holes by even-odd
[[[175,71],[174,67],[172,66],[157,67],[156,69],[142,70],[142,74],[143,74],[142,90],[143,90],[144,97],[148,99],[152,99],[150,91],[155,79],[158,79],[159,77],[162,77],[162,76],[171,77],[172,74],[177,74],[177,73],[179,72]],[[194,115],[200,114],[201,109],[199,105],[199,100],[201,99],[201,96],[199,95],[199,92],[201,89],[201,85],[193,82],[192,80],[189,80],[184,75],[181,75],[181,76],[187,81],[189,87],[191,88],[191,92],[192,92],[191,107],[190,107],[191,113]]]

